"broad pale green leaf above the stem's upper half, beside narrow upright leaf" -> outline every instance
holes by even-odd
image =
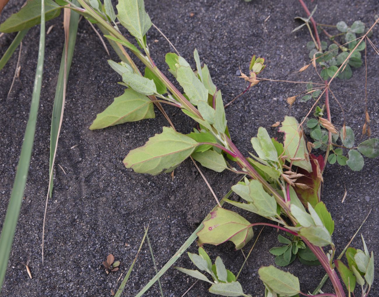
[[[208,102],[208,91],[196,77],[191,67],[179,66],[176,80],[183,87],[189,102],[194,105],[197,105],[199,101]]]

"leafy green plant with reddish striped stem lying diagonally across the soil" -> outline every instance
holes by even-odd
[[[41,3],[41,0],[33,1],[37,6]],[[122,77],[120,84],[127,89],[97,115],[91,129],[153,118],[153,104],[162,111],[161,103],[180,108],[185,115],[199,124],[199,128],[187,135],[177,132],[173,126],[163,127],[160,134],[149,138],[144,146],[127,154],[124,159],[127,168],[132,168],[138,173],[157,175],[171,172],[186,158],[192,156],[202,166],[215,171],[228,169],[237,174],[244,174],[246,177],[243,181],[232,187],[244,202],[230,199],[225,201],[273,222],[250,223],[238,213],[222,208],[219,204],[219,207],[204,220],[203,229],[197,233],[199,246],[232,241],[236,249],[241,249],[254,236],[254,226],[268,225],[291,236],[291,239],[287,240],[280,237],[282,242],[287,244],[284,248],[278,247],[275,252],[271,249],[272,253],[283,257],[281,264],[289,263],[294,255],[299,253],[299,258],[303,260],[321,263],[332,282],[334,293],[321,293],[318,296],[346,296],[337,271],[349,295],[350,292],[354,292],[356,284],[361,287],[362,296],[368,295],[374,278],[373,253],[368,252],[362,237],[364,250],[349,248],[346,252],[348,265],[339,259],[334,260],[334,221],[320,197],[325,162],[322,156],[310,154],[302,125],[296,118],[286,116],[282,121],[279,132],[283,133],[283,143],[271,138],[266,129],[260,127],[256,137],[251,139],[255,154],[250,153],[249,157],[245,157],[230,137],[221,91],[213,84],[207,65],[201,67],[197,51],[194,51],[196,71],[192,70],[183,57],[175,53],[166,54],[169,72],[174,75],[184,93],[180,92],[154,63],[146,42],[146,33],[152,23],[145,11],[143,0],[120,0],[117,5],[118,21],[136,38],[143,52],[120,33],[110,0],[106,0],[104,5],[98,0],[78,0],[81,7],[67,0],[49,0],[47,3],[53,7],[50,12],[59,11],[69,4],[69,8],[83,14],[92,23],[97,23],[100,28],[109,32],[106,35],[109,40],[128,48],[146,66],[142,76],[132,59],[120,63],[109,61],[110,66]],[[19,13],[25,13],[25,8]],[[56,16],[54,13],[49,18]],[[25,26],[21,29],[24,28]],[[249,82],[249,87],[259,82],[257,75],[265,68],[264,62],[263,58],[253,56],[249,65],[249,76],[241,73],[241,77]],[[310,129],[318,125],[330,127],[330,121],[324,119],[321,114],[318,116],[317,123],[313,123],[314,126],[308,122]],[[318,133],[314,131],[311,133]],[[348,133],[348,129],[344,129],[342,142],[346,148],[352,148],[354,137],[348,136]],[[331,144],[327,143],[327,146]],[[358,149],[367,157],[377,157],[378,146],[379,140],[373,138],[360,144]],[[349,151],[349,161],[358,168],[362,156],[357,157],[354,152],[357,151]],[[341,154],[335,150],[334,155],[338,160]],[[233,164],[240,169],[236,169]],[[302,249],[304,252],[299,252]],[[280,253],[282,250],[284,252]],[[198,271],[182,271],[210,282],[210,292],[225,296],[248,296],[244,294],[234,275],[226,270],[220,258],[212,264],[203,249],[199,249],[199,255],[189,256],[200,270],[211,275],[213,281]],[[266,288],[266,296],[307,295],[301,292],[298,278],[290,272],[284,272],[271,265],[260,267],[258,274]]]

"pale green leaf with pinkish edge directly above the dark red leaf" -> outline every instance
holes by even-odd
[[[286,116],[282,122],[282,128],[279,132],[284,132],[284,147],[285,154],[289,157],[287,161],[290,162],[290,158],[304,158],[305,160],[294,161],[293,165],[301,167],[308,172],[312,171],[312,166],[309,161],[307,146],[305,144],[304,137],[300,136],[299,123],[294,117]]]

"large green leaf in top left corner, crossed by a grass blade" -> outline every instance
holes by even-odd
[[[54,19],[61,13],[61,6],[53,0],[45,0],[45,20]],[[41,23],[41,0],[30,0],[0,25],[0,32],[11,33],[31,28]]]

